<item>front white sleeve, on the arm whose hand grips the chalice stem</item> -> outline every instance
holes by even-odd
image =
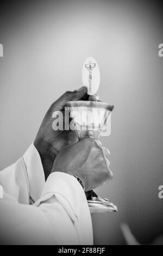
[[[0,242],[18,245],[92,245],[92,222],[82,186],[72,175],[49,175],[34,205],[0,199]]]

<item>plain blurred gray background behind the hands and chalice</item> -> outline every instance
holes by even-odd
[[[114,180],[97,192],[118,213],[92,216],[96,244],[124,243],[122,222],[143,243],[163,233],[163,35],[158,9],[141,2],[13,1],[0,17],[0,169],[26,151],[49,105],[82,86],[85,58],[98,62],[98,93],[115,110],[101,138]]]

